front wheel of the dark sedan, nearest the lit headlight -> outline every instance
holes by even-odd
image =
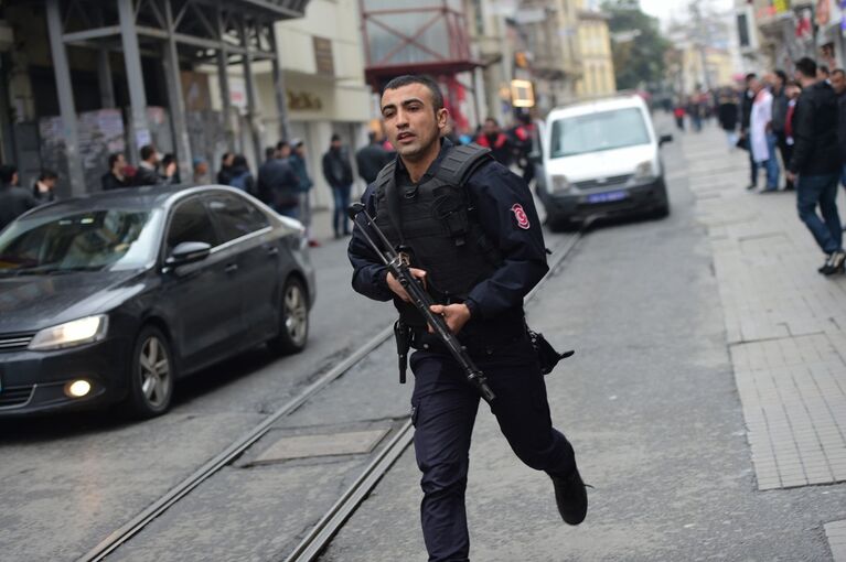
[[[129,375],[127,406],[131,417],[154,418],[168,411],[176,381],[176,365],[170,342],[158,327],[148,324],[138,333]]]

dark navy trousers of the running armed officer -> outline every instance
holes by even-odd
[[[517,457],[537,471],[570,474],[576,467],[572,446],[553,428],[544,376],[528,337],[479,346],[471,357],[496,395],[491,410]],[[420,519],[429,561],[467,561],[464,491],[480,397],[446,353],[418,350],[410,365],[415,453],[422,472]],[[549,502],[551,507],[551,487]]]

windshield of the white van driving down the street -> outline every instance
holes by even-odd
[[[650,134],[640,109],[614,109],[553,122],[549,156],[572,156],[649,142]]]

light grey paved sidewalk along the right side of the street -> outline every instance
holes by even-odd
[[[824,257],[797,217],[794,193],[743,188],[746,152],[729,153],[716,129],[682,139],[714,251],[758,488],[844,482],[846,277],[816,272]],[[843,194],[838,203],[846,216]],[[838,525],[828,536],[846,542]],[[846,560],[846,544],[832,550]]]

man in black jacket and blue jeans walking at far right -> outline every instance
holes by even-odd
[[[827,82],[817,82],[816,63],[804,57],[796,63],[802,95],[793,115],[793,156],[788,175],[796,185],[799,217],[826,253],[820,272],[842,273],[846,262],[843,230],[837,213],[837,180],[840,155],[837,143],[837,94]],[[816,214],[816,207],[823,219]]]

